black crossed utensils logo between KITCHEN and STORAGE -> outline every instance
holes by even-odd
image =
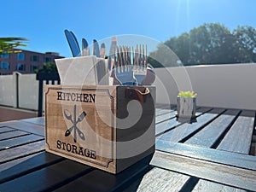
[[[72,124],[73,124],[65,132],[65,137],[68,137],[71,134],[71,132],[73,131],[73,141],[74,141],[74,143],[77,143],[77,133],[79,134],[79,137],[82,140],[85,140],[84,133],[79,130],[79,127],[77,125],[79,124],[79,122],[81,122],[85,118],[86,113],[83,111],[82,113],[79,114],[79,117],[77,118],[77,106],[74,105],[73,106],[73,115],[67,109],[64,110],[64,115],[65,115],[66,119],[71,121]]]

